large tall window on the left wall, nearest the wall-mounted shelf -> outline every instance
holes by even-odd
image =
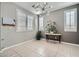
[[[19,9],[16,10],[17,13],[17,31],[26,31],[26,15]]]

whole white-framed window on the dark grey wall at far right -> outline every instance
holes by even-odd
[[[64,12],[64,31],[77,32],[77,9]]]

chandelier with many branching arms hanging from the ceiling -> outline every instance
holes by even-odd
[[[35,10],[36,14],[43,14],[49,13],[49,9],[52,8],[47,2],[38,2],[32,5],[33,9]]]

